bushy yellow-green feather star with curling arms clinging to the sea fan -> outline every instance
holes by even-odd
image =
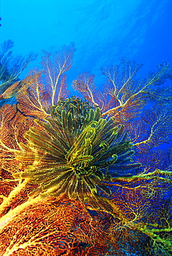
[[[51,116],[36,121],[38,127],[25,134],[28,144],[20,144],[21,150],[16,152],[24,171],[15,176],[39,184],[32,194],[66,193],[86,201],[97,198],[97,188],[111,194],[104,183],[113,176],[109,166],[116,170],[139,166],[130,163],[133,145],[123,126],[102,119],[98,107],[94,110],[88,103],[70,98],[52,107]]]

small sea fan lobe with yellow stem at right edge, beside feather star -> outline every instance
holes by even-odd
[[[169,107],[146,109],[139,120],[127,122],[125,127],[137,151],[148,152],[153,147],[169,143],[172,131],[172,112]]]

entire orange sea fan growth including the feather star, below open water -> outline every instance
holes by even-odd
[[[68,98],[74,52],[44,52],[41,71],[2,86],[16,104],[0,108],[0,255],[171,255],[172,151],[155,148],[170,140],[171,68],[136,79],[123,59],[102,91],[82,73],[84,99]]]

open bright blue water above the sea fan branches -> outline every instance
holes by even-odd
[[[75,42],[69,89],[84,71],[94,73],[101,88],[100,68],[125,56],[144,64],[140,77],[162,60],[172,66],[172,0],[1,0],[0,16],[0,43],[12,39],[14,53],[54,52]],[[28,68],[39,62],[40,55]]]

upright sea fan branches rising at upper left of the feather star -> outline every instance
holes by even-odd
[[[17,107],[26,116],[45,118],[50,106],[70,93],[66,84],[66,71],[73,64],[74,44],[62,46],[59,51],[43,52],[42,71],[32,70],[26,77],[26,85],[17,95]]]

